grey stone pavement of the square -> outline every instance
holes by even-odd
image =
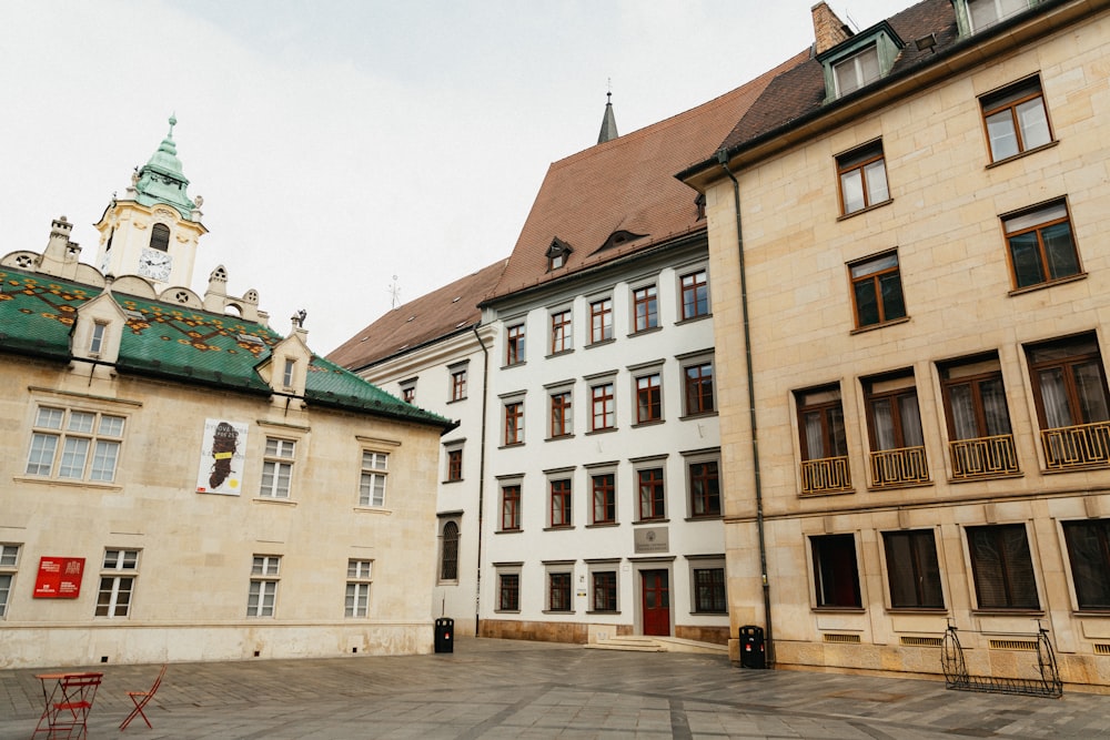
[[[413,657],[171,663],[104,673],[89,737],[131,738],[1099,738],[1110,697],[947,691],[942,682],[744,670],[713,655],[463,638]],[[0,739],[30,738],[36,673],[0,671]],[[42,737],[42,736],[40,736]]]

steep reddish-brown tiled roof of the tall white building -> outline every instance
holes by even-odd
[[[552,164],[492,297],[705,229],[697,193],[675,172],[716,146],[771,80],[808,58],[807,50],[685,113]],[[642,237],[599,252],[617,231]],[[573,252],[566,266],[548,273],[546,252],[556,237]]]

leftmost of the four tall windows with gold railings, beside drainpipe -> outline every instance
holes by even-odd
[[[795,397],[801,437],[801,493],[849,490],[851,473],[840,386],[799,391]]]

